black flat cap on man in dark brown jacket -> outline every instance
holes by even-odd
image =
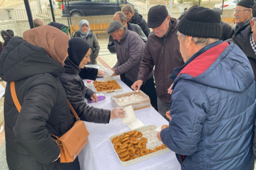
[[[164,5],[156,5],[148,11],[148,28],[156,28],[160,26],[168,16],[168,11]]]

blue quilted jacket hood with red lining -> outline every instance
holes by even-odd
[[[180,79],[236,92],[247,90],[254,82],[247,56],[233,42],[216,45],[192,60],[178,74],[174,86]]]

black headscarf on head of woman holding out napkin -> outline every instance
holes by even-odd
[[[76,66],[79,66],[80,62],[84,59],[84,56],[88,52],[89,48],[91,48],[89,43],[82,38],[71,38],[69,40],[69,48],[67,49],[69,59]]]

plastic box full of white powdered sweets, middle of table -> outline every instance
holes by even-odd
[[[111,96],[112,105],[117,107],[126,108],[132,106],[133,110],[139,110],[142,108],[150,107],[149,96],[143,91],[131,91],[126,93],[113,94]]]

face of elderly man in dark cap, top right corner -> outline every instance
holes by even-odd
[[[237,25],[241,25],[245,23],[245,21],[249,20],[252,16],[252,9],[246,9],[243,6],[236,6],[235,14],[234,14]]]

